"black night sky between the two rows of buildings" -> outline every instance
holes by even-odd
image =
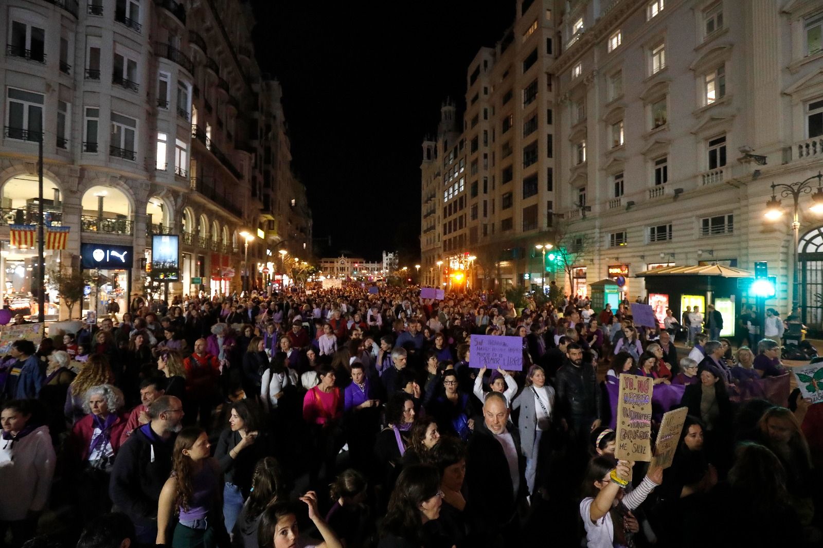
[[[481,46],[514,0],[253,0],[258,61],[283,87],[292,169],[305,183],[318,256],[419,258],[421,142],[446,96],[463,109]]]

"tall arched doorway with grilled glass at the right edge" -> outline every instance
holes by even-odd
[[[809,230],[797,243],[800,306],[808,335],[823,336],[823,226]]]

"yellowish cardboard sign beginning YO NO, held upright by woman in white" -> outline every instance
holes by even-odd
[[[652,460],[653,378],[621,374],[618,382],[615,457],[649,462]]]

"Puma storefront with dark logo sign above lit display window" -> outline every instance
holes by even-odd
[[[91,275],[83,295],[83,316],[92,312],[96,318],[104,317],[109,300],[118,304],[120,314],[128,311],[133,260],[131,245],[80,244],[81,270]]]

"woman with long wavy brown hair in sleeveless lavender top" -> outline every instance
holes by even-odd
[[[211,444],[204,430],[184,428],[174,440],[172,472],[160,491],[157,504],[158,545],[167,545],[172,513],[178,513],[173,548],[216,548],[220,533],[221,472],[211,457]]]

